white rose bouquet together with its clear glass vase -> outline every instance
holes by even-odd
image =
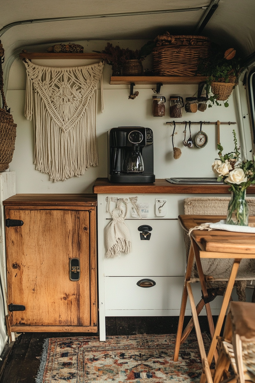
[[[255,156],[253,160],[239,159],[236,132],[233,130],[235,150],[222,155],[223,147],[218,144],[219,159],[212,164],[217,181],[230,185],[231,200],[227,210],[226,224],[248,226],[249,209],[245,200],[246,189],[255,184]]]

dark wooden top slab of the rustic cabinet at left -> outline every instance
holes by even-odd
[[[15,194],[4,206],[96,206],[94,194]]]

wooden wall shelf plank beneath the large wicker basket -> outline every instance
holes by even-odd
[[[172,84],[199,84],[206,80],[205,76],[179,76],[179,77],[168,77],[168,76],[111,76],[110,84],[111,85],[130,85],[132,82],[135,85],[150,85],[162,82],[165,85]]]

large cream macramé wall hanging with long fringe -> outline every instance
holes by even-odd
[[[25,60],[25,116],[34,118],[36,170],[57,182],[97,166],[97,83],[104,64],[44,67]],[[96,90],[96,92],[95,92]],[[96,94],[95,94],[96,93]]]

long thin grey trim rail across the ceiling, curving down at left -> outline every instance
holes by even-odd
[[[67,17],[54,17],[54,18],[46,18],[46,19],[34,19],[34,20],[15,21],[15,23],[7,24],[2,29],[0,29],[0,37],[3,36],[3,34],[6,31],[8,31],[8,29],[12,28],[13,26],[22,25],[22,24],[46,23],[46,22],[49,22],[49,21],[96,19],[96,18],[102,18],[102,17],[153,15],[153,14],[156,14],[156,13],[173,13],[173,12],[200,11],[200,10],[207,10],[209,7],[210,6],[197,7],[197,8],[165,9],[165,10],[156,10],[156,11],[139,11],[139,12],[126,12],[126,13],[106,13],[106,14],[102,14],[102,15],[67,16]]]

